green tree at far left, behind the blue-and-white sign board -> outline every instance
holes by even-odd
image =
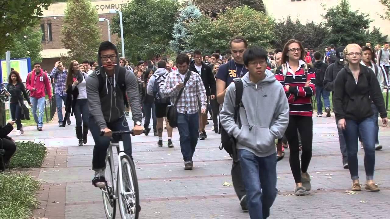
[[[37,27],[26,27],[13,38],[11,42],[11,58],[30,58],[31,64],[42,62],[42,32]],[[5,59],[5,53],[0,54],[1,59]]]

